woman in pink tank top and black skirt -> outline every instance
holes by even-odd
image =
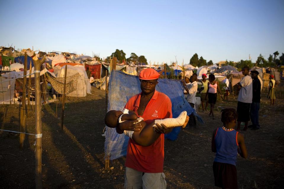
[[[222,95],[220,87],[219,87],[219,82],[215,81],[214,74],[210,74],[209,75],[209,82],[208,82],[208,88],[207,88],[206,97],[208,95],[208,103],[210,104],[209,116],[212,115],[213,119],[215,119],[215,116],[214,116],[214,105],[215,105],[216,100],[217,100],[217,89],[218,89],[218,92],[220,93],[221,98],[222,98],[223,95]]]

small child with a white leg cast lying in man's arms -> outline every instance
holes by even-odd
[[[106,126],[111,128],[116,128],[118,123],[122,123],[126,120],[138,120],[136,123],[141,122],[140,131],[126,131],[125,135],[129,136],[133,141],[141,146],[150,146],[154,141],[160,136],[161,133],[154,131],[155,124],[164,124],[168,128],[182,127],[185,128],[188,123],[189,117],[186,111],[180,113],[177,118],[166,118],[166,119],[156,119],[150,124],[146,124],[142,117],[139,117],[135,112],[124,109],[123,112],[120,110],[110,110],[106,113],[104,122]]]

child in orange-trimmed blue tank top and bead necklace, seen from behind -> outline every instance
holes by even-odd
[[[223,127],[214,130],[212,151],[216,152],[213,163],[215,186],[221,188],[238,188],[236,161],[237,155],[248,156],[243,135],[235,131],[238,113],[233,108],[222,111]]]

